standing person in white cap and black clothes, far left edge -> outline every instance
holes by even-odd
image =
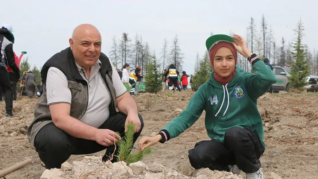
[[[0,86],[4,93],[6,116],[15,117],[12,114],[13,93],[6,67],[9,65],[17,79],[20,78],[20,69],[15,63],[13,53],[14,36],[12,34],[12,26],[10,24],[3,24],[0,27]]]

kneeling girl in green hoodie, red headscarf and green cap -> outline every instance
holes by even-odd
[[[189,150],[191,166],[236,174],[242,170],[246,179],[263,179],[259,158],[265,143],[257,99],[277,79],[239,35],[213,35],[206,40],[206,47],[214,70],[210,79],[199,87],[186,109],[159,134],[143,137],[138,143],[139,150],[177,137],[205,110],[205,127],[211,140],[200,141]],[[237,66],[237,52],[252,64],[255,74]]]

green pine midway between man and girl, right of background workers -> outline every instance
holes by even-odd
[[[146,75],[146,88],[149,93],[157,93],[162,88],[162,75],[159,72],[159,63],[154,52],[152,56],[152,63],[147,65],[148,73]]]

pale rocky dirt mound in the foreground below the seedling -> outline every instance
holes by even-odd
[[[73,164],[64,162],[61,169],[46,169],[40,179],[242,179],[243,176],[230,172],[199,169],[194,176],[184,176],[173,169],[166,169],[159,163],[146,166],[139,161],[127,164],[125,162],[102,162],[102,156],[85,156]]]

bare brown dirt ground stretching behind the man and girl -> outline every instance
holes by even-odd
[[[156,135],[170,120],[180,114],[193,92],[141,93],[135,96],[145,127],[142,136]],[[37,99],[19,98],[13,103],[17,119],[5,117],[4,102],[0,102],[0,170],[28,157],[33,162],[6,176],[7,179],[38,179],[45,171],[35,148],[26,137],[26,129],[33,119]],[[284,179],[316,179],[318,171],[318,93],[277,93],[258,101],[263,116],[266,150],[261,157],[265,175],[272,173]],[[180,175],[195,177],[188,160],[188,150],[197,141],[208,140],[204,115],[183,134],[153,147],[154,152],[142,162],[149,166],[156,162]],[[135,145],[136,146],[136,145]],[[137,149],[134,147],[133,152]],[[93,156],[102,156],[101,151]],[[72,155],[67,162],[82,161],[85,156]],[[244,173],[241,175],[245,177]],[[268,177],[273,178],[273,177]]]

